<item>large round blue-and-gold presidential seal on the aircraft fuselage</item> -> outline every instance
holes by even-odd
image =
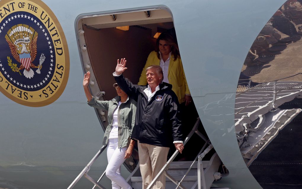
[[[53,103],[69,76],[59,21],[40,0],[2,0],[0,5],[0,91],[25,106]]]

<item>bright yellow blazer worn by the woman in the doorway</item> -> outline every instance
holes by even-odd
[[[146,65],[140,75],[140,81],[137,83],[138,85],[146,85],[146,68],[151,65],[159,66],[160,60],[157,57],[155,51],[152,51],[147,59]],[[190,94],[188,83],[185,77],[184,68],[182,67],[182,60],[177,58],[174,60],[174,56],[171,54],[169,70],[168,70],[168,80],[172,85],[172,90],[178,97],[179,103],[183,103],[185,101],[185,94]]]

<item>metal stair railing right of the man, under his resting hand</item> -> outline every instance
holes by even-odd
[[[194,127],[193,127],[193,129],[191,130],[191,132],[188,134],[188,136],[186,137],[186,139],[185,139],[185,142],[184,142],[184,145],[186,145],[186,143],[188,142],[188,140],[192,137],[192,135],[194,134],[194,133],[196,133],[199,137],[201,137],[206,143],[205,143],[205,145],[201,148],[201,152],[202,152],[202,150],[207,146],[207,145],[209,145],[209,147],[202,153],[202,155],[205,155],[205,154],[207,154],[209,151],[210,151],[210,149],[212,149],[213,148],[213,146],[210,144],[210,142],[209,142],[209,140],[207,140],[206,139],[206,137],[201,133],[201,132],[199,132],[198,131],[198,125],[199,125],[199,123],[200,123],[200,118],[198,118],[197,119],[197,121],[196,121],[196,123],[195,123],[195,125],[194,125]],[[165,177],[167,177],[170,181],[172,181],[175,185],[177,185],[177,187],[176,187],[176,189],[179,187],[179,188],[181,188],[181,189],[186,189],[183,185],[182,185],[182,181],[184,180],[184,178],[185,178],[185,176],[188,174],[188,172],[191,170],[191,168],[193,167],[193,164],[194,164],[194,161],[196,160],[196,158],[195,158],[195,160],[193,161],[193,163],[192,163],[192,165],[190,166],[190,168],[188,169],[188,171],[185,173],[185,175],[184,175],[184,177],[181,179],[181,181],[176,181],[171,175],[169,175],[168,173],[167,173],[167,171],[168,171],[168,169],[169,169],[169,166],[170,166],[170,164],[172,163],[172,161],[175,159],[175,157],[178,155],[178,153],[179,153],[179,151],[178,150],[176,150],[174,153],[173,153],[173,155],[171,156],[171,158],[167,161],[167,163],[162,167],[162,169],[159,171],[159,173],[156,175],[156,177],[153,179],[153,181],[151,181],[151,183],[149,184],[149,186],[147,187],[147,189],[150,189],[151,187],[153,187],[154,186],[154,184],[156,183],[156,181],[159,179],[159,177],[161,177],[162,176],[162,174],[164,174],[165,175]],[[201,156],[201,155],[199,155],[198,154],[198,161],[199,161],[199,159],[200,159],[200,157],[204,157],[204,156]],[[202,159],[201,158],[201,159]],[[201,165],[201,166],[200,166]],[[198,174],[198,176],[199,176],[199,178],[203,178],[203,179],[201,179],[201,180],[204,180],[204,174],[203,174],[203,169],[201,170],[200,168],[202,168],[202,163],[200,164],[200,163],[198,163],[198,172],[202,172],[202,174],[199,176],[199,174]],[[205,183],[203,183],[204,184],[204,186],[205,186]],[[196,185],[195,185],[195,187],[196,187]],[[200,189],[200,188],[205,188],[205,187],[201,187],[201,182],[199,182],[198,181],[198,188]]]

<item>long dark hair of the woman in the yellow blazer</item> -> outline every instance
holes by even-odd
[[[159,37],[156,40],[155,52],[157,52],[158,59],[160,59],[159,40],[164,40],[164,41],[167,42],[167,44],[172,46],[171,47],[171,52],[172,52],[171,54],[174,56],[174,60],[176,60],[177,58],[180,58],[178,45],[176,44],[174,38],[168,32],[163,32],[162,34],[159,35]]]

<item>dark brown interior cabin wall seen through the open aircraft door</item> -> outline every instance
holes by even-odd
[[[92,70],[99,88],[106,92],[104,99],[117,95],[112,86],[117,59],[127,59],[128,69],[124,76],[137,84],[147,57],[155,47],[156,39],[152,37],[151,29],[130,26],[128,31],[116,28],[96,30],[83,25],[83,30]]]

